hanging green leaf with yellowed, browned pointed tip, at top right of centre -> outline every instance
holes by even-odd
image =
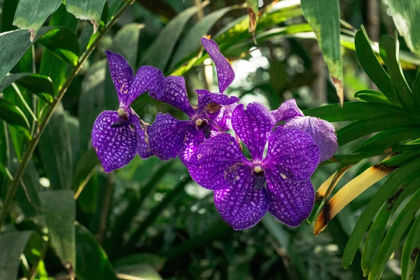
[[[338,0],[302,0],[304,18],[309,22],[324,60],[330,70],[332,83],[337,90],[340,103],[344,102],[343,66],[339,38],[339,1]]]

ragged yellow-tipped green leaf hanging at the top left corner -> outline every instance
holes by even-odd
[[[30,39],[34,41],[45,20],[59,8],[61,3],[62,0],[20,0],[13,25],[20,29],[28,29],[31,33]]]

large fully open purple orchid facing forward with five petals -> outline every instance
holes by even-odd
[[[232,113],[232,127],[252,160],[225,133],[201,144],[188,162],[191,177],[214,190],[218,212],[235,230],[253,227],[267,211],[281,223],[296,227],[314,207],[309,178],[318,165],[319,148],[302,130],[279,126],[272,132],[275,124],[262,104],[248,104],[246,110],[239,104]]]

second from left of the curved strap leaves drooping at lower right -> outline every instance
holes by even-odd
[[[389,218],[395,213],[400,204],[411,195],[419,186],[420,177],[414,174],[414,180],[409,179],[407,184],[402,184],[398,190],[393,193],[391,197],[386,200],[386,203],[379,211],[379,214],[374,219],[372,227],[369,230],[369,235],[365,241],[362,254],[362,269],[365,275],[367,275],[374,265],[374,258],[377,255],[377,250],[381,245],[381,241],[386,232],[386,224]]]

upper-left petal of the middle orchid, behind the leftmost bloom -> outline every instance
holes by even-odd
[[[155,94],[152,94],[152,97],[158,99]],[[188,116],[193,116],[195,113],[195,110],[188,101],[186,80],[184,80],[183,76],[166,77],[165,92],[158,100],[180,109]]]

